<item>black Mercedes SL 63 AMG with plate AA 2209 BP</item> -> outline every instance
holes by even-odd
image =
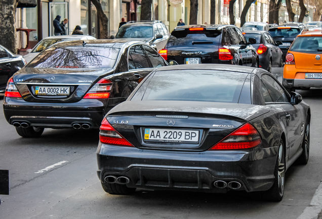
[[[147,190],[284,194],[309,158],[310,107],[266,70],[160,67],[100,127],[98,177],[110,194]]]

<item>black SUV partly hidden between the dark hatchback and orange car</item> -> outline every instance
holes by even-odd
[[[278,46],[283,52],[283,57],[289,51],[289,48],[296,36],[306,27],[302,23],[288,22],[280,26],[274,26],[268,30],[275,41],[281,41],[282,45]]]

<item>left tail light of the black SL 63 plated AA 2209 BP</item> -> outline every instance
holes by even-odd
[[[125,139],[113,128],[106,118],[103,119],[100,127],[100,141],[105,144],[134,147],[129,141],[127,141],[127,139]]]

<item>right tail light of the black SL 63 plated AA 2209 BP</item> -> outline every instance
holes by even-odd
[[[249,123],[238,128],[209,150],[238,150],[254,148],[261,143],[258,131]]]

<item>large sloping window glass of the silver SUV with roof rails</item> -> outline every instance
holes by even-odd
[[[148,26],[121,26],[116,33],[115,38],[152,38],[153,29],[151,25]]]

